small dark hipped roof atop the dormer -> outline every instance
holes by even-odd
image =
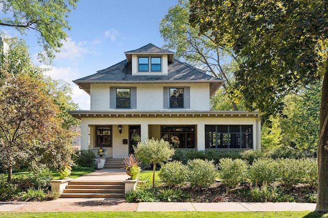
[[[141,55],[168,55],[168,61],[170,63],[173,63],[174,61],[174,52],[170,52],[168,50],[163,50],[157,47],[156,45],[149,43],[145,46],[139,47],[139,49],[132,50],[129,52],[124,53],[125,56],[127,57],[128,62],[131,62],[131,57],[133,54],[141,54]]]

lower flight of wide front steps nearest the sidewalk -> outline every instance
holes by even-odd
[[[124,198],[125,184],[120,181],[79,181],[68,183],[60,198]]]

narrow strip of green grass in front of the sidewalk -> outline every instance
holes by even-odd
[[[328,214],[311,211],[281,212],[0,212],[0,217],[328,217]]]

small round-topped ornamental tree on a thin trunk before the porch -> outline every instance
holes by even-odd
[[[139,142],[134,147],[134,153],[144,163],[153,164],[153,187],[155,183],[156,164],[171,160],[174,149],[164,139],[148,139],[146,143]]]

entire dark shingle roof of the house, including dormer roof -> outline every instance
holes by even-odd
[[[206,72],[197,69],[187,63],[172,59],[168,63],[167,75],[132,75],[132,54],[168,54],[173,52],[162,50],[153,44],[147,44],[137,50],[125,53],[127,59],[106,69],[98,70],[96,74],[73,81],[81,89],[90,94],[90,83],[210,83],[210,95],[224,82],[222,79],[207,75]],[[130,57],[130,61],[129,58]]]

